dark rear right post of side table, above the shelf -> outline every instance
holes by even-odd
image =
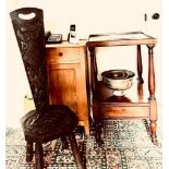
[[[141,45],[137,45],[137,80],[140,83],[144,83],[144,80],[142,77],[143,74],[143,65],[142,65],[142,52],[141,52]]]

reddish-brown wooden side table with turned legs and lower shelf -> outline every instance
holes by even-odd
[[[136,36],[137,34],[137,36]],[[122,37],[124,35],[124,37]],[[125,37],[129,38],[126,39]],[[120,36],[121,38],[117,38]],[[141,36],[141,38],[135,38]],[[113,38],[116,37],[116,38]],[[132,39],[133,38],[133,39]],[[135,38],[135,39],[134,39]],[[92,105],[94,121],[96,126],[99,128],[100,119],[135,119],[135,118],[149,118],[152,141],[155,143],[156,137],[156,121],[157,121],[157,102],[155,98],[155,71],[153,48],[156,45],[157,39],[142,32],[126,33],[126,34],[113,34],[113,35],[90,35],[87,47],[90,56],[90,88],[92,88]],[[146,79],[143,81],[143,65],[142,65],[142,52],[141,45],[148,47],[148,82]],[[137,47],[137,74],[138,82],[134,80],[134,84],[131,88],[124,92],[124,96],[113,96],[112,89],[105,86],[101,81],[97,80],[97,65],[96,53],[97,47],[116,47],[116,46],[136,46]],[[105,58],[106,59],[106,58]],[[144,83],[143,83],[144,82]],[[99,129],[96,129],[96,132]],[[96,135],[100,134],[97,132]],[[98,136],[97,136],[98,137]],[[100,144],[100,136],[97,138]]]

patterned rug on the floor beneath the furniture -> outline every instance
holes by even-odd
[[[90,135],[83,137],[82,129],[75,131],[76,138],[87,169],[161,169],[161,130],[158,129],[158,145],[149,137],[147,120],[104,120],[104,147],[95,141],[94,128]],[[25,161],[25,141],[22,129],[7,129],[7,169],[35,169],[34,159]],[[76,169],[71,149],[62,150],[57,140],[44,145],[45,169]]]

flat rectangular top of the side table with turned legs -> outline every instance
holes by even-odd
[[[109,33],[89,35],[87,46],[131,46],[131,45],[156,45],[157,39],[142,32]]]

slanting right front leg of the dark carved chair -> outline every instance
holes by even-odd
[[[77,168],[79,169],[86,169],[86,167],[83,164],[83,158],[82,158],[82,155],[81,155],[80,149],[77,147],[77,143],[76,143],[74,133],[69,135],[69,140],[70,140],[70,145],[71,145],[72,153],[73,153],[73,156],[74,156],[74,160],[75,160],[75,162],[77,165]]]

